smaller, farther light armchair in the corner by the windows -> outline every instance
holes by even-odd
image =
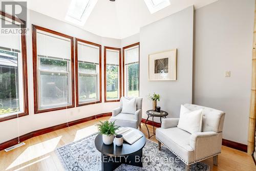
[[[121,97],[120,106],[112,111],[110,121],[115,121],[115,124],[123,127],[133,127],[137,129],[140,126],[142,119],[142,98],[136,98],[136,112],[134,114],[121,113],[122,99],[131,99],[131,97]]]

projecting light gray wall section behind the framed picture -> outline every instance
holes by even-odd
[[[160,94],[158,103],[168,117],[179,117],[180,105],[192,102],[194,8],[188,7],[140,29],[140,96],[145,111],[152,109],[149,93]],[[177,48],[177,80],[148,81],[148,54]],[[158,120],[157,120],[158,121]]]

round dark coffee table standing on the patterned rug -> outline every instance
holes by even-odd
[[[130,128],[133,129],[133,128]],[[123,141],[123,145],[117,146],[115,140],[106,145],[102,141],[102,135],[97,135],[94,143],[96,149],[101,153],[101,170],[114,170],[121,164],[129,164],[142,167],[142,148],[145,146],[146,138],[142,132],[133,129],[143,137],[129,144]]]

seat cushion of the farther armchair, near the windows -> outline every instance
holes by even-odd
[[[134,127],[135,129],[138,128],[138,120],[136,120],[134,114],[124,114],[119,113],[116,116],[112,116],[110,121],[115,121],[115,124],[122,127]]]

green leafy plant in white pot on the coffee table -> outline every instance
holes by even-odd
[[[114,141],[114,135],[116,130],[120,127],[115,125],[115,122],[110,122],[108,120],[96,124],[98,126],[99,134],[102,135],[102,140],[104,144],[109,145]]]

